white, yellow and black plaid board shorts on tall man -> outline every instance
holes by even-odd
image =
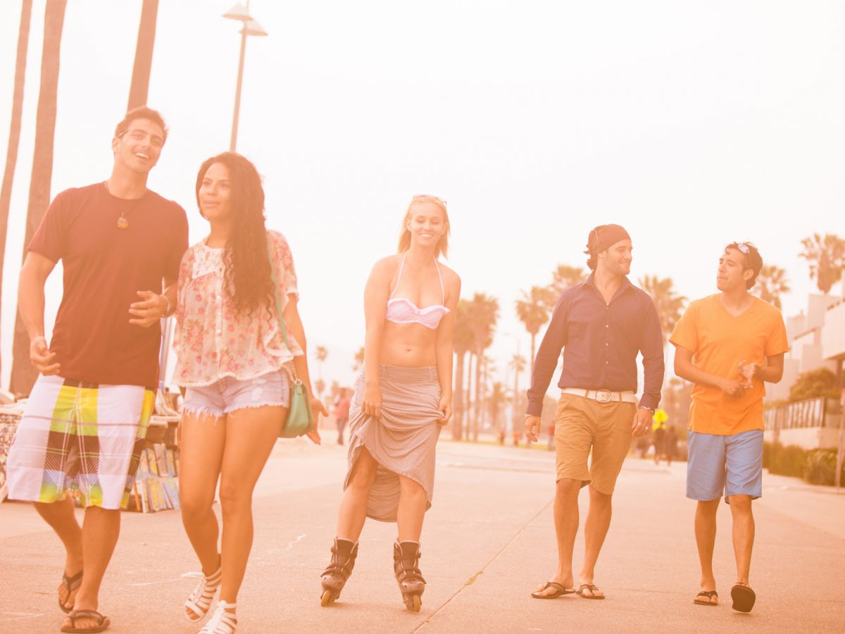
[[[8,453],[9,499],[55,502],[73,489],[83,506],[125,507],[154,405],[139,385],[39,375]]]

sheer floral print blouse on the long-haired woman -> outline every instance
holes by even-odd
[[[284,310],[287,296],[298,296],[297,273],[285,237],[268,231],[267,239],[275,254],[275,279]],[[211,385],[226,376],[253,379],[275,372],[294,355],[303,354],[290,333],[293,352],[285,346],[275,301],[270,313],[262,304],[252,315],[236,316],[232,298],[223,287],[225,270],[223,249],[207,247],[205,240],[183,255],[173,338],[178,357],[173,380],[177,385]]]

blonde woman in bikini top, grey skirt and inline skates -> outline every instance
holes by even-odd
[[[431,506],[434,451],[452,413],[452,331],[461,279],[439,262],[449,245],[446,203],[414,196],[399,253],[373,266],[364,290],[363,371],[350,408],[349,470],[320,604],[340,597],[367,517],[397,522],[393,566],[402,600],[418,612],[423,518]]]

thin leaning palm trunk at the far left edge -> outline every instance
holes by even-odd
[[[6,254],[6,231],[8,229],[8,208],[12,201],[14,168],[18,165],[20,141],[20,119],[24,105],[24,79],[26,76],[26,50],[30,43],[30,17],[32,0],[24,0],[20,7],[18,27],[18,51],[14,61],[14,91],[12,94],[12,119],[8,125],[8,146],[6,147],[6,170],[3,172],[3,187],[0,189],[0,297],[3,297],[3,260]]]

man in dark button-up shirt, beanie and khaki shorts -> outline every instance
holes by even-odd
[[[599,551],[610,527],[616,478],[631,437],[645,435],[660,401],[663,349],[657,309],[648,294],[628,280],[631,240],[619,225],[590,232],[586,281],[560,296],[543,336],[528,391],[525,429],[537,440],[542,399],[564,349],[562,390],[555,414],[556,493],[554,527],[558,567],[534,598],[578,593],[604,598],[594,583]],[[636,358],[643,355],[645,386],[639,407]],[[591,465],[587,459],[592,451]],[[578,532],[578,492],[590,485],[584,563],[575,589],[572,549]]]

